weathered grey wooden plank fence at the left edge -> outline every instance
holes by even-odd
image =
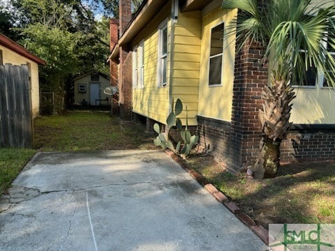
[[[28,66],[0,65],[0,147],[32,148]]]

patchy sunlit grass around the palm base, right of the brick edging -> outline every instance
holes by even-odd
[[[335,162],[283,165],[276,178],[265,180],[230,174],[208,156],[193,155],[187,162],[263,227],[335,224]]]

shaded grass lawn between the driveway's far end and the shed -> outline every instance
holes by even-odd
[[[108,112],[68,112],[34,121],[35,148],[40,151],[156,149],[154,135],[142,125],[122,125]]]

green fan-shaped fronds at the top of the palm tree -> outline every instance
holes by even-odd
[[[275,65],[283,63],[292,81],[306,70],[317,69],[335,86],[335,5],[333,0],[224,0],[223,8],[239,8],[231,29],[237,33],[237,51],[258,42],[271,54]],[[329,4],[331,3],[331,4]],[[327,42],[327,43],[326,43]],[[295,82],[294,84],[301,84]]]

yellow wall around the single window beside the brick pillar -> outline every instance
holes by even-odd
[[[216,8],[202,17],[202,43],[199,86],[199,115],[230,121],[232,116],[232,88],[234,82],[234,37],[224,42],[222,86],[209,86],[209,51],[211,29],[222,22],[225,28],[237,10]]]

